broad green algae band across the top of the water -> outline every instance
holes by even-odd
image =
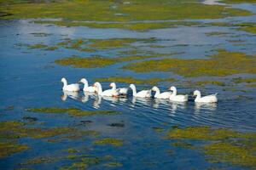
[[[196,0],[188,1],[137,1],[115,3],[113,1],[61,1],[60,3],[1,3],[0,12],[3,19],[63,19],[56,24],[61,26],[91,26],[145,30],[173,26],[172,22],[134,23],[141,20],[189,20],[217,19],[229,16],[247,16],[251,13],[237,8],[226,8],[221,5],[206,5]],[[111,8],[115,4],[117,8]],[[196,9],[196,10],[195,10]],[[85,12],[84,12],[85,11]],[[139,13],[137,11],[140,11]],[[170,13],[169,11],[172,11]],[[152,14],[154,13],[154,14]],[[120,15],[121,14],[121,15]],[[87,21],[119,21],[103,25]],[[73,21],[73,22],[71,22]],[[53,21],[52,21],[53,22]],[[171,23],[171,24],[170,24]]]

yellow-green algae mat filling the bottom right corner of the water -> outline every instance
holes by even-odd
[[[244,167],[256,166],[256,133],[240,133],[228,128],[186,127],[170,130],[166,134],[166,139],[205,141],[197,147],[180,143],[172,143],[172,145],[201,150],[207,156],[207,161],[213,163],[223,162]]]

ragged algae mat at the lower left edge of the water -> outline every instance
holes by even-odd
[[[26,127],[22,122],[0,122],[0,156],[9,156],[16,152],[28,150],[26,144],[19,144],[20,138],[33,139],[81,139],[88,135],[97,135],[96,131],[79,130],[73,127]],[[74,138],[76,137],[76,138]]]

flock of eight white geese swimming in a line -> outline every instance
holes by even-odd
[[[67,92],[78,92],[80,90],[79,83],[67,84],[66,78],[61,78],[61,82],[63,82],[63,91]],[[96,93],[100,96],[107,96],[107,97],[119,97],[119,96],[126,96],[128,95],[128,89],[131,88],[132,96],[137,98],[151,98],[152,91],[155,92],[154,98],[155,99],[170,99],[171,101],[175,102],[187,102],[189,100],[188,94],[177,94],[177,88],[172,86],[169,88],[171,91],[160,93],[160,89],[154,86],[148,90],[142,90],[137,92],[137,88],[134,84],[130,84],[129,88],[117,88],[114,82],[111,82],[108,90],[102,89],[102,84],[100,82],[95,82],[93,86],[89,86],[88,81],[85,78],[82,78],[80,83],[84,84],[83,91]],[[217,103],[217,94],[211,94],[204,97],[201,97],[201,92],[199,90],[194,91],[195,102],[196,103]]]

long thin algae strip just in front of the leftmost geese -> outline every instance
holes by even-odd
[[[39,113],[68,113],[71,116],[115,115],[120,113],[118,111],[82,111],[77,108],[58,108],[58,107],[30,108],[30,109],[26,109],[26,111],[39,112]]]

